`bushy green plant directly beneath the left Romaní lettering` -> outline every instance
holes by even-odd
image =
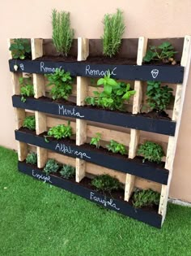
[[[68,99],[72,93],[72,78],[70,72],[65,72],[63,69],[56,68],[56,71],[53,74],[47,74],[45,76],[49,80],[47,86],[53,85],[53,88],[50,90],[53,100],[58,98]]]

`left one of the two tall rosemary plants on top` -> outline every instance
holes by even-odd
[[[57,10],[53,9],[52,26],[53,45],[58,52],[67,56],[74,39],[74,29],[70,28],[70,12],[57,12]]]

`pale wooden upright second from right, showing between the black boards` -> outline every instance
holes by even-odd
[[[137,65],[142,65],[142,59],[146,54],[147,39],[145,37],[139,37],[138,39],[138,56]],[[142,81],[135,80],[134,90],[136,91],[134,95],[133,102],[133,114],[138,114],[142,106]],[[134,158],[136,156],[138,141],[140,137],[140,131],[136,129],[130,130],[130,142],[129,142],[129,158]],[[135,176],[126,174],[125,180],[125,201],[129,201],[129,197],[134,190]]]

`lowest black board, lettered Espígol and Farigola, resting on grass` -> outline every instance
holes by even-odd
[[[155,212],[135,209],[128,202],[119,201],[110,197],[104,197],[104,195],[97,193],[94,190],[87,189],[81,184],[71,182],[70,180],[64,180],[53,175],[45,176],[45,174],[37,167],[32,168],[23,162],[18,163],[18,168],[19,171],[27,174],[28,176],[32,176],[36,180],[42,180],[49,184],[53,184],[54,186],[77,194],[80,197],[86,198],[87,200],[95,202],[96,204],[99,204],[107,209],[115,210],[118,213],[129,216],[133,219],[138,219],[139,221],[150,224],[155,228],[161,228],[162,216]]]

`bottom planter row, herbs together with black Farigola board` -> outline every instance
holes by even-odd
[[[134,193],[133,203],[125,202],[123,200],[124,185],[115,177],[104,174],[96,176],[92,180],[85,177],[80,183],[77,183],[74,180],[74,167],[67,164],[61,165],[54,159],[49,159],[45,167],[40,169],[36,167],[36,162],[28,162],[28,158],[32,158],[32,156],[28,154],[26,161],[19,162],[19,171],[32,176],[36,180],[66,189],[100,206],[149,223],[156,228],[161,228],[162,217],[157,214],[155,208],[151,208],[151,205],[156,203],[156,200],[154,202],[153,193],[148,194],[144,191],[142,197],[138,197],[137,193]],[[146,206],[146,208],[141,208],[141,206]]]

